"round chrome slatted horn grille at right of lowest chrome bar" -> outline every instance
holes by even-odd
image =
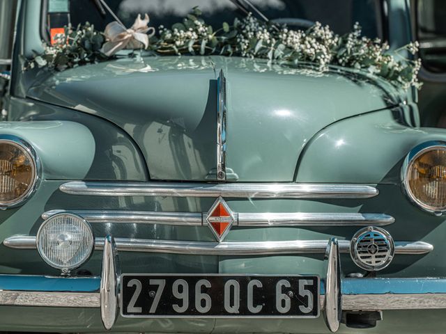
[[[357,267],[367,271],[378,271],[387,267],[392,262],[394,252],[392,236],[382,228],[363,228],[351,239],[351,258]]]

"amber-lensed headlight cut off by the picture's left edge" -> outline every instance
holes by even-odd
[[[38,160],[31,145],[16,136],[0,136],[0,207],[13,207],[36,188]]]

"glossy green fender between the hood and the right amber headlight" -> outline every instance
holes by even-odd
[[[296,182],[399,184],[403,159],[412,148],[446,140],[444,129],[396,122],[399,113],[369,113],[322,129],[300,157]]]

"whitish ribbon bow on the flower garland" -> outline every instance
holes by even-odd
[[[104,35],[107,42],[102,45],[102,53],[113,56],[121,49],[144,49],[148,47],[148,38],[155,34],[155,28],[148,26],[149,18],[146,14],[144,19],[138,14],[137,19],[130,29],[125,29],[120,22],[110,22],[105,27]]]

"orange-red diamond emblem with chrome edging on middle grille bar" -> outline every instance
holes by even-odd
[[[217,198],[206,214],[206,223],[219,242],[223,240],[235,221],[235,215],[221,197]]]

